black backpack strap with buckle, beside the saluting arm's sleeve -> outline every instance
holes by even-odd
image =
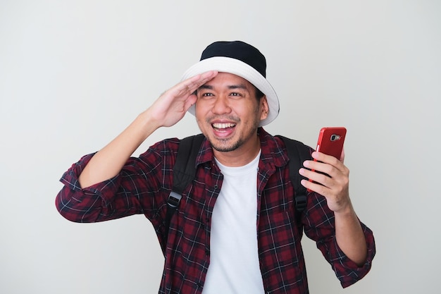
[[[173,188],[167,200],[166,236],[168,236],[171,218],[182,199],[182,192],[192,183],[196,174],[196,157],[203,140],[204,135],[199,134],[185,137],[180,141],[175,166],[173,166]]]

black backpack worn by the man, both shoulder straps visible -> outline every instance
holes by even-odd
[[[280,137],[285,143],[290,158],[288,168],[290,170],[290,180],[295,190],[295,207],[297,212],[303,212],[306,207],[306,188],[300,183],[300,180],[304,177],[300,176],[299,169],[303,166],[303,161],[311,159],[310,148],[302,142],[281,135],[276,135],[276,137]],[[203,140],[204,135],[202,134],[185,137],[178,147],[178,155],[175,166],[173,166],[173,188],[167,200],[166,236],[168,235],[170,220],[182,199],[182,192],[187,188],[187,185],[192,183],[196,173],[196,157]]]

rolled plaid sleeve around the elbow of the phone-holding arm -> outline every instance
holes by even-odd
[[[351,286],[366,276],[371,269],[372,260],[375,256],[373,232],[364,223],[361,223],[366,238],[368,255],[365,264],[359,267],[344,255],[344,252],[337,245],[334,214],[328,209],[325,197],[316,193],[311,193],[310,196],[308,201],[311,203],[309,203],[309,208],[304,216],[305,234],[316,241],[318,249],[321,250],[325,259],[330,263],[342,287]]]

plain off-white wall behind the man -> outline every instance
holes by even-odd
[[[266,56],[280,116],[315,147],[347,127],[345,164],[377,255],[342,289],[304,239],[311,293],[440,293],[441,2],[0,0],[0,293],[157,293],[144,216],[72,223],[58,179],[175,85],[216,40]],[[149,137],[199,132],[188,114]]]

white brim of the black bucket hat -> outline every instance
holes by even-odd
[[[263,75],[261,75],[247,63],[244,63],[238,59],[232,59],[230,57],[211,57],[209,59],[201,60],[191,66],[187,71],[185,71],[184,75],[182,76],[182,80],[191,78],[194,75],[199,75],[200,73],[205,73],[206,71],[218,71],[238,75],[241,78],[251,82],[251,84],[256,86],[259,90],[261,90],[261,92],[263,92],[263,94],[266,95],[269,112],[267,118],[263,119],[259,126],[268,125],[268,123],[274,121],[274,119],[278,116],[280,111],[279,99],[277,94],[275,94],[273,86],[271,86]],[[188,111],[190,114],[194,115],[194,105],[192,105]]]

